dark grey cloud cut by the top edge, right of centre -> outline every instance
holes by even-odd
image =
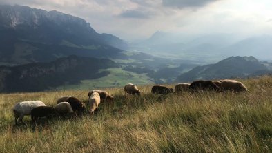
[[[164,6],[171,8],[199,8],[218,0],[162,0]]]

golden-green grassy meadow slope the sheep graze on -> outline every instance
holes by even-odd
[[[241,81],[250,92],[164,96],[142,85],[141,96],[125,97],[108,88],[115,100],[95,115],[52,119],[35,132],[29,116],[14,126],[15,103],[55,105],[64,95],[86,102],[88,90],[0,94],[0,152],[272,152],[272,77]]]

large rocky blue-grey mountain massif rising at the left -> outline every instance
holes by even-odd
[[[126,43],[99,34],[84,19],[28,6],[0,6],[0,61],[48,62],[71,54],[126,59]]]

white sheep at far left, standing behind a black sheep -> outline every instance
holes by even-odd
[[[30,115],[31,110],[33,108],[37,108],[38,106],[45,106],[41,101],[22,101],[19,103],[16,103],[13,107],[14,112],[14,118],[15,118],[15,124],[17,125],[17,120],[19,118],[19,121],[23,123],[23,116]]]

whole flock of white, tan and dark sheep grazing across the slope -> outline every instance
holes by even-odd
[[[167,88],[164,85],[153,85],[151,92],[153,94],[170,94],[170,93],[180,93],[180,92],[196,92],[196,91],[226,91],[231,90],[233,92],[246,92],[243,83],[235,80],[220,80],[220,81],[193,81],[189,83],[179,83],[175,85],[175,90],[173,88]],[[125,94],[137,94],[140,95],[141,92],[137,89],[136,85],[128,83],[124,87]],[[98,108],[101,101],[112,101],[114,97],[106,91],[102,90],[92,90],[88,93],[88,103],[85,105],[79,99],[73,96],[61,96],[57,99],[57,104],[54,107],[46,106],[41,101],[23,101],[16,103],[13,108],[15,124],[18,122],[23,123],[23,116],[31,115],[32,123],[41,117],[53,117],[53,116],[81,116],[82,114],[88,112],[88,114],[93,114]],[[19,121],[18,121],[19,119]]]

